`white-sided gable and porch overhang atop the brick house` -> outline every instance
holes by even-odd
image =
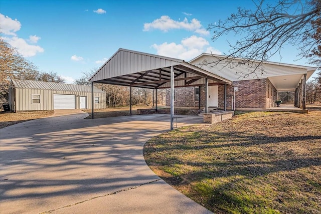
[[[306,79],[308,79],[316,70],[315,67],[310,66],[266,61],[262,64],[262,70],[259,69],[249,74],[249,71],[253,71],[252,62],[257,65],[259,61],[242,63],[245,59],[241,58],[237,58],[231,63],[228,63],[228,60],[219,61],[223,58],[226,56],[203,53],[191,60],[190,63],[232,81],[268,78],[279,92],[294,91],[303,79],[303,74],[306,74]]]

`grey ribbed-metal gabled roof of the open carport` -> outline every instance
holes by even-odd
[[[171,66],[174,67],[176,86],[180,81],[192,83],[202,78],[219,84],[232,84],[232,81],[184,60],[126,49],[119,49],[89,81],[151,89],[162,88],[167,87],[165,85],[170,82]]]

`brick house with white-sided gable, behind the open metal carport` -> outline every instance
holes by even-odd
[[[305,82],[316,70],[308,66],[264,62],[255,73],[248,74],[253,62],[244,63],[242,59],[233,62],[218,61],[223,58],[224,56],[204,53],[189,62],[233,82],[232,85],[209,84],[208,107],[224,109],[226,98],[226,109],[233,109],[234,100],[237,110],[267,109],[276,106],[278,92],[295,91],[294,105],[302,108]],[[234,99],[235,87],[237,92]],[[169,90],[166,100],[167,104],[170,103]],[[176,107],[205,107],[205,85],[176,87],[174,102]]]

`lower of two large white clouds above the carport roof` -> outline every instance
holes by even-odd
[[[161,45],[153,44],[158,55],[173,57],[189,61],[202,53],[222,54],[220,51],[209,46],[209,42],[202,37],[191,36],[181,41],[181,44],[163,43]]]

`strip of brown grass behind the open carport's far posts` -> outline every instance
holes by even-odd
[[[132,106],[131,114],[137,115],[137,109],[151,108],[150,106]],[[82,109],[89,114],[85,119],[91,119],[91,109]],[[94,118],[119,117],[130,115],[129,106],[117,106],[115,108],[95,109]]]

